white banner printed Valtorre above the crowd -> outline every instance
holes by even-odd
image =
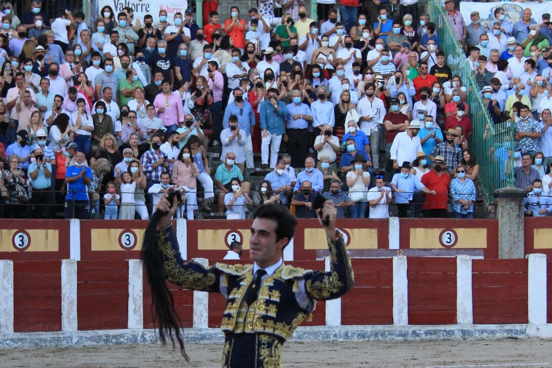
[[[99,0],[98,11],[104,6],[110,6],[117,14],[123,11],[123,8],[129,7],[134,12],[134,19],[139,19],[144,25],[144,15],[150,14],[153,17],[153,24],[159,23],[159,12],[167,12],[167,22],[174,24],[174,13],[182,13],[188,8],[188,0]]]

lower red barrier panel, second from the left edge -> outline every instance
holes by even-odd
[[[128,327],[129,266],[126,261],[81,261],[77,266],[79,330]]]

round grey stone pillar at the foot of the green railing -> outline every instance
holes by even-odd
[[[518,188],[495,191],[498,219],[498,258],[524,258],[523,199],[526,193]]]

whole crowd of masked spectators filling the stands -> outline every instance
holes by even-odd
[[[29,3],[0,7],[3,217],[147,219],[178,186],[189,220],[269,203],[315,217],[317,193],[338,217],[471,218],[481,186],[469,144],[501,126],[514,141],[491,154],[528,193],[527,215],[552,211],[549,14],[527,8],[512,24],[498,7],[489,25],[477,12],[465,24],[453,0],[442,20],[416,1],[330,0],[317,21],[302,2],[276,18],[259,0],[223,20],[209,1],[199,28],[192,8],[153,23],[131,8],[87,19]],[[442,22],[478,90],[447,64]],[[474,93],[491,116],[482,137],[471,137]],[[258,171],[261,184],[245,180]]]

